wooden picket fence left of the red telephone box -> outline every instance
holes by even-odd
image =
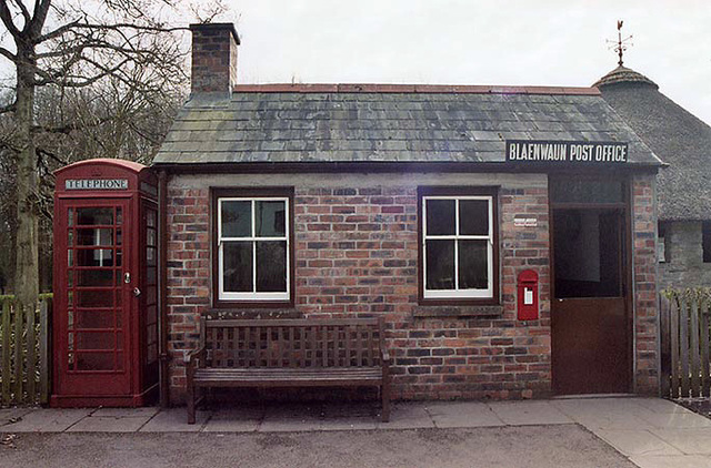
[[[30,307],[0,296],[0,406],[49,403],[51,311],[51,294]]]

